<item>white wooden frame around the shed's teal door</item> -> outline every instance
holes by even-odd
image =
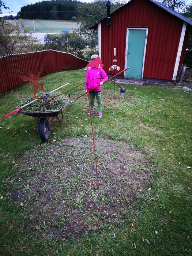
[[[144,52],[143,52],[142,76],[141,76],[141,79],[143,79],[143,71],[144,71],[144,63],[145,63],[145,54],[146,54],[148,27],[127,27],[126,47],[125,47],[125,68],[127,68],[127,52],[128,52],[129,30],[146,30],[145,45],[144,45]],[[127,74],[127,70],[124,72],[124,79],[126,79],[126,74]]]

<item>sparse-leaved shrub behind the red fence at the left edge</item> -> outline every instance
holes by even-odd
[[[5,21],[0,27],[0,56],[40,49],[38,39],[32,37],[30,30],[26,29],[22,20],[11,24]]]

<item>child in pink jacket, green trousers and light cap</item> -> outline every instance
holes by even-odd
[[[95,60],[97,57],[99,57],[96,54],[93,54],[91,56],[91,60]],[[90,79],[98,78],[89,81]],[[101,82],[101,78],[103,78]],[[88,115],[93,114],[94,112],[94,100],[95,97],[97,99],[97,105],[98,105],[98,118],[102,118],[102,101],[101,101],[101,86],[103,82],[105,82],[108,79],[108,76],[106,75],[105,71],[101,67],[91,67],[87,70],[86,79],[85,79],[85,91],[89,91],[93,89],[95,86],[99,84],[97,88],[95,88],[93,91],[90,91],[89,97],[90,97],[90,105],[91,105],[91,113],[89,111]],[[87,82],[88,81],[88,82]]]

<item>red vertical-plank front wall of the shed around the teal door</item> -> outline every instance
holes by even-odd
[[[183,21],[150,1],[132,0],[111,15],[112,25],[101,22],[101,57],[109,74],[116,48],[117,65],[125,67],[127,27],[147,27],[143,77],[172,80]],[[112,71],[116,74],[117,71]]]

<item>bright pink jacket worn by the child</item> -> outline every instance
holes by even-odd
[[[93,78],[98,78],[91,80],[88,83],[86,81],[93,79]],[[101,83],[101,78],[103,78],[102,82],[105,82],[108,79],[108,76],[106,75],[105,71],[102,68],[97,68],[97,67],[91,67],[87,70],[86,78],[85,78],[85,90],[89,88],[92,89],[98,84]],[[97,88],[95,88],[95,91],[101,91],[101,85],[99,85]]]

